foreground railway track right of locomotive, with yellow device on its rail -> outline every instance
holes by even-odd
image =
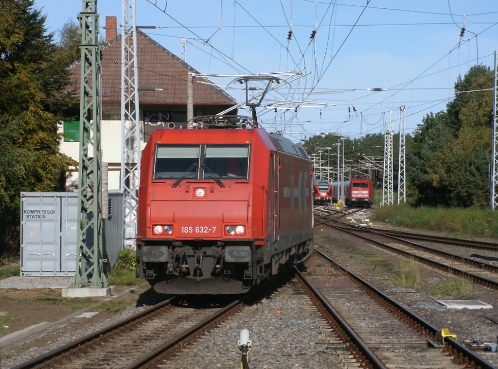
[[[324,267],[326,258],[332,267]],[[304,277],[373,357],[372,368],[496,368],[320,251]],[[368,313],[366,313],[368,311]],[[363,362],[362,362],[363,363]]]

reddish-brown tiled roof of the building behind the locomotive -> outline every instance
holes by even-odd
[[[187,104],[187,72],[199,74],[159,43],[140,30],[136,30],[138,50],[138,87],[161,88],[162,91],[140,91],[140,104]],[[74,91],[80,93],[81,61],[71,65]],[[105,44],[102,57],[102,102],[121,101],[121,35]],[[235,105],[233,97],[223,90],[196,81],[194,78],[194,104]],[[205,81],[205,80],[204,80]]]

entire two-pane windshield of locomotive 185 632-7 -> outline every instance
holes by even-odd
[[[156,146],[154,179],[247,180],[248,173],[249,145]]]

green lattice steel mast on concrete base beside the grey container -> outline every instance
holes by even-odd
[[[97,0],[83,0],[81,33],[78,259],[74,286],[107,285],[102,234],[99,14]]]

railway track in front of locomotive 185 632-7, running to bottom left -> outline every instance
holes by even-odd
[[[184,307],[175,297],[14,368],[146,368],[242,306],[235,300],[213,313]]]

